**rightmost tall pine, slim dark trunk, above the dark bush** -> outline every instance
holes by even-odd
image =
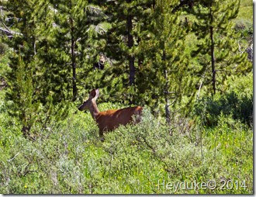
[[[201,85],[211,84],[213,95],[220,90],[227,76],[251,69],[245,54],[238,52],[238,35],[232,19],[237,17],[240,0],[200,0],[193,7],[193,25],[198,42],[192,56],[197,55],[201,68]]]

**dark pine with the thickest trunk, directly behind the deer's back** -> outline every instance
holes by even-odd
[[[106,56],[112,59],[112,67],[103,75],[109,94],[119,94],[119,101],[137,102],[137,69],[144,55],[139,45],[147,35],[153,0],[106,2],[104,12],[109,16],[110,28],[106,33]],[[110,77],[109,77],[110,76]]]

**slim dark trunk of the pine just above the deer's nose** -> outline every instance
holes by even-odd
[[[77,88],[77,76],[76,76],[76,62],[75,62],[75,54],[74,54],[75,40],[74,40],[74,26],[73,19],[71,19],[71,65],[72,65],[72,86],[73,86],[73,101],[77,98],[78,88]]]

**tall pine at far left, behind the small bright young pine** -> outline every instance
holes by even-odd
[[[12,32],[11,38],[6,36],[5,43],[12,48],[12,55],[10,55],[9,67],[12,69],[7,76],[7,81],[14,82],[16,78],[13,76],[18,70],[19,56],[26,65],[27,71],[32,71],[33,74],[33,87],[35,94],[33,100],[40,102],[45,100],[43,96],[42,75],[43,67],[38,64],[38,51],[42,45],[42,35],[40,26],[45,24],[43,16],[47,15],[45,7],[47,3],[44,0],[26,0],[16,2],[7,1],[4,4],[5,8],[9,10],[8,20],[5,26],[9,27]],[[9,98],[12,100],[12,96]]]

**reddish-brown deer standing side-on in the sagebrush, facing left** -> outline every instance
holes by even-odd
[[[142,107],[134,106],[124,109],[110,109],[104,112],[99,112],[96,100],[99,97],[99,89],[93,89],[89,98],[83,102],[78,110],[84,111],[88,109],[99,127],[99,136],[103,137],[103,134],[112,130],[115,130],[120,125],[126,126],[129,123],[139,123],[142,115]],[[133,116],[137,116],[133,119]],[[135,120],[135,121],[133,121]]]

